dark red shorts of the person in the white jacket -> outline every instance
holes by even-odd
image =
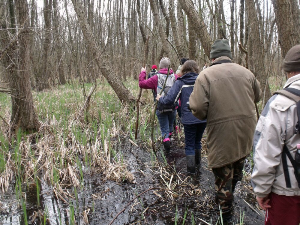
[[[265,225],[299,225],[300,196],[269,194],[270,201],[265,212]]]

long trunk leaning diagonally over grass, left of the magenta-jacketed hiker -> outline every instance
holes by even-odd
[[[93,57],[101,73],[107,79],[107,82],[114,89],[117,96],[119,97],[122,103],[132,102],[135,100],[134,96],[125,88],[122,81],[118,76],[113,72],[113,68],[111,67],[109,61],[106,58],[101,58],[101,51],[98,46],[98,43],[94,37],[94,34],[91,32],[90,26],[88,25],[86,15],[83,11],[83,7],[79,1],[72,0],[76,15],[78,17],[78,22],[80,24],[83,36],[85,38],[86,43],[88,44],[91,52],[93,53]],[[101,58],[101,59],[100,59]]]

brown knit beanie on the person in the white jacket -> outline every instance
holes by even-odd
[[[283,59],[283,70],[286,72],[300,71],[300,44],[295,45]]]

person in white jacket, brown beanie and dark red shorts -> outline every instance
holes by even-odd
[[[283,60],[287,81],[284,88],[300,90],[300,45],[292,47]],[[296,102],[283,95],[273,95],[259,118],[253,138],[254,168],[251,184],[256,199],[266,211],[267,225],[299,225],[300,188],[294,168],[286,157],[290,187],[283,170],[284,145],[295,158],[300,143]]]

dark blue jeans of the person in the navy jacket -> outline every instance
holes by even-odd
[[[184,124],[185,155],[195,155],[195,149],[201,149],[202,134],[206,123]]]

